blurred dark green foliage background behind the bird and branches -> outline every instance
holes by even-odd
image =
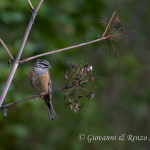
[[[38,0],[31,0],[35,6]],[[78,113],[70,110],[63,92],[53,95],[57,118],[50,121],[45,104],[30,100],[8,108],[8,118],[0,112],[0,150],[141,150],[150,149],[148,141],[80,141],[79,134],[144,135],[150,138],[150,1],[140,0],[45,0],[39,9],[22,59],[79,44],[101,36],[102,16],[114,10],[137,29],[128,42],[115,42],[119,57],[109,54],[107,42],[91,44],[42,57],[51,66],[53,89],[62,87],[68,63],[93,66],[97,76],[94,100],[82,99]],[[17,55],[30,18],[27,0],[0,0],[0,37]],[[0,93],[10,71],[8,54],[0,45]],[[5,104],[34,95],[27,80],[36,60],[20,65],[15,73]]]

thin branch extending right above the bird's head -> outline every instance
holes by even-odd
[[[66,47],[66,48],[62,48],[62,49],[58,49],[58,50],[42,53],[42,54],[39,54],[39,55],[35,55],[35,56],[32,56],[32,57],[26,58],[24,60],[21,60],[20,63],[22,64],[22,63],[27,62],[29,60],[32,60],[32,59],[35,59],[35,58],[38,58],[38,57],[42,57],[42,56],[45,56],[45,55],[50,55],[50,54],[54,54],[54,53],[58,53],[58,52],[66,51],[66,50],[70,50],[70,49],[73,49],[73,48],[82,47],[82,46],[85,46],[85,45],[88,45],[88,44],[92,44],[92,43],[96,43],[96,42],[99,42],[99,41],[102,41],[102,40],[105,40],[105,39],[108,39],[108,38],[110,38],[110,35],[108,35],[106,37],[101,37],[101,38],[98,38],[96,40],[89,41],[89,42],[86,42],[86,43],[81,43],[81,44],[69,46],[69,47]]]

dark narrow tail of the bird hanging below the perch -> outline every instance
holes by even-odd
[[[49,115],[50,120],[56,119],[56,114],[55,114],[55,111],[54,111],[51,101],[49,103],[46,103],[46,106],[48,109],[48,115]]]

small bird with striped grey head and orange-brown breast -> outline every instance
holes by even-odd
[[[49,69],[51,69],[51,66],[47,60],[38,59],[34,67],[28,73],[29,83],[37,94],[52,92],[52,81]],[[46,103],[50,120],[56,119],[56,114],[51,102],[52,94],[44,95],[42,99]]]

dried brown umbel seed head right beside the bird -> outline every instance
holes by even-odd
[[[89,100],[93,99],[95,94],[91,91],[91,83],[96,80],[93,74],[93,67],[86,65],[76,65],[70,63],[71,73],[64,73],[65,79],[67,81],[66,87],[71,87],[65,93],[64,98],[68,99],[71,110],[78,112],[78,110],[83,106],[81,100],[83,97]]]

